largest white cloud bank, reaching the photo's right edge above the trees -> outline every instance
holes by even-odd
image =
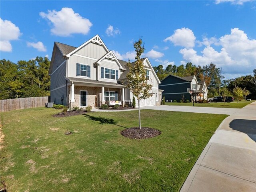
[[[231,29],[231,34],[219,38],[220,52],[208,45],[199,55],[193,48],[180,50],[184,62],[206,65],[211,62],[227,74],[248,74],[256,66],[256,40],[248,39],[244,31]]]

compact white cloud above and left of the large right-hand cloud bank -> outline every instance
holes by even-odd
[[[189,28],[181,28],[174,31],[172,36],[164,39],[164,42],[170,41],[175,46],[183,46],[186,48],[191,48],[195,46],[196,37],[194,33]]]

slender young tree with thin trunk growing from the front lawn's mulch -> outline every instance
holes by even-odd
[[[149,98],[152,94],[149,91],[152,89],[152,84],[148,83],[146,79],[146,70],[143,64],[143,60],[140,58],[145,48],[142,46],[142,38],[140,38],[137,42],[133,44],[136,56],[134,65],[128,61],[127,66],[129,68],[129,73],[127,74],[127,84],[126,88],[130,89],[132,94],[138,99],[139,104],[139,128],[141,128],[140,124],[140,100]]]

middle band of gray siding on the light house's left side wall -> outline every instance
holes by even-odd
[[[51,90],[66,84],[64,77],[66,77],[66,63],[51,75]]]

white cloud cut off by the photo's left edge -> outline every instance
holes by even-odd
[[[19,39],[19,36],[22,35],[20,29],[11,21],[0,18],[0,31],[0,50],[11,52],[12,45],[10,41]]]

